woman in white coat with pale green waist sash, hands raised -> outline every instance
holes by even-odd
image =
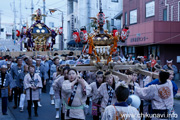
[[[62,96],[65,104],[65,119],[85,120],[84,106],[91,87],[75,69],[69,69],[68,79],[62,84]]]

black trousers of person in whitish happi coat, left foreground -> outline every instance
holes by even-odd
[[[28,114],[31,116],[32,103],[34,103],[34,113],[37,114],[38,100],[28,100]]]

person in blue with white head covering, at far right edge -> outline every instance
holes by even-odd
[[[175,65],[173,65],[173,60],[167,60],[166,61],[166,65],[163,66],[163,69],[164,70],[173,70],[174,71],[174,74],[176,74],[178,72],[178,69]]]

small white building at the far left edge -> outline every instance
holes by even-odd
[[[1,23],[0,39],[12,39],[13,23]]]

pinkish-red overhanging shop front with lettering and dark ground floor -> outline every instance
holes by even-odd
[[[137,56],[159,56],[161,64],[166,64],[167,59],[180,68],[180,22],[150,21],[129,27],[130,35],[123,52]]]

